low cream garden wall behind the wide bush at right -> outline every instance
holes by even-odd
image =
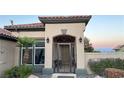
[[[121,58],[124,59],[124,52],[112,52],[112,53],[85,53],[84,54],[84,60],[85,60],[85,68],[89,73],[91,73],[88,62],[89,60],[99,60],[104,58]]]

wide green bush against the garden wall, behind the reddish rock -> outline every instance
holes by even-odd
[[[121,59],[101,59],[97,62],[88,63],[90,70],[97,75],[104,76],[106,68],[117,68],[124,70],[124,60]]]

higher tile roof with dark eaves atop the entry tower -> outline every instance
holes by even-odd
[[[39,20],[43,23],[72,23],[85,22],[86,24],[91,19],[91,15],[75,15],[75,16],[39,16]]]

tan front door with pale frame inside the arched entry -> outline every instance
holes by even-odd
[[[58,58],[55,61],[54,71],[57,73],[74,73],[71,43],[59,43],[57,46]]]

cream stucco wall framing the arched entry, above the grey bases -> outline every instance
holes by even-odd
[[[49,38],[49,43],[45,43],[45,68],[52,68],[52,45],[53,37],[62,34],[62,29],[66,29],[66,35],[71,35],[76,38],[77,49],[77,68],[84,68],[84,42],[80,43],[79,38],[83,41],[83,31],[85,29],[85,23],[64,23],[64,24],[46,24],[45,25],[45,39]]]

